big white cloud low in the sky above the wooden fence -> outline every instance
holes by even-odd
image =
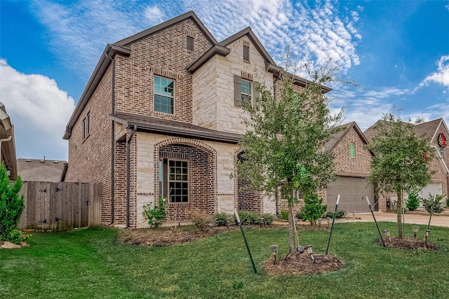
[[[62,139],[74,99],[56,82],[38,74],[22,74],[0,59],[0,97],[14,125],[18,158],[67,160]]]

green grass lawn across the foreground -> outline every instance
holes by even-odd
[[[438,251],[406,251],[378,246],[374,223],[338,223],[330,253],[346,267],[299,276],[262,270],[269,245],[286,255],[287,230],[246,229],[257,274],[239,230],[168,247],[117,244],[109,228],[36,233],[31,246],[0,249],[0,298],[449,298],[449,229],[431,229]],[[327,231],[299,237],[326,252]]]

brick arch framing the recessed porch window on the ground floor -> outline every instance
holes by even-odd
[[[154,144],[154,186],[159,186],[159,153],[163,146],[190,146],[196,150],[201,151],[207,156],[208,175],[207,181],[203,181],[208,188],[207,198],[204,209],[209,214],[217,213],[217,151],[212,146],[194,139],[187,138],[170,138]],[[190,181],[192,183],[192,181]],[[155,198],[159,197],[159,188],[155,188]],[[196,202],[198,203],[198,202]],[[189,209],[198,208],[193,201],[188,203],[174,203],[169,205],[168,221],[183,221],[189,220]]]

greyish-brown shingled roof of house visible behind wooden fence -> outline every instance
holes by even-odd
[[[61,181],[65,163],[65,161],[58,160],[19,158],[17,160],[18,174],[22,178],[22,181],[48,181],[58,183]]]

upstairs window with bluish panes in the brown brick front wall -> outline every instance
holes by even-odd
[[[154,111],[173,114],[175,81],[154,76]]]

